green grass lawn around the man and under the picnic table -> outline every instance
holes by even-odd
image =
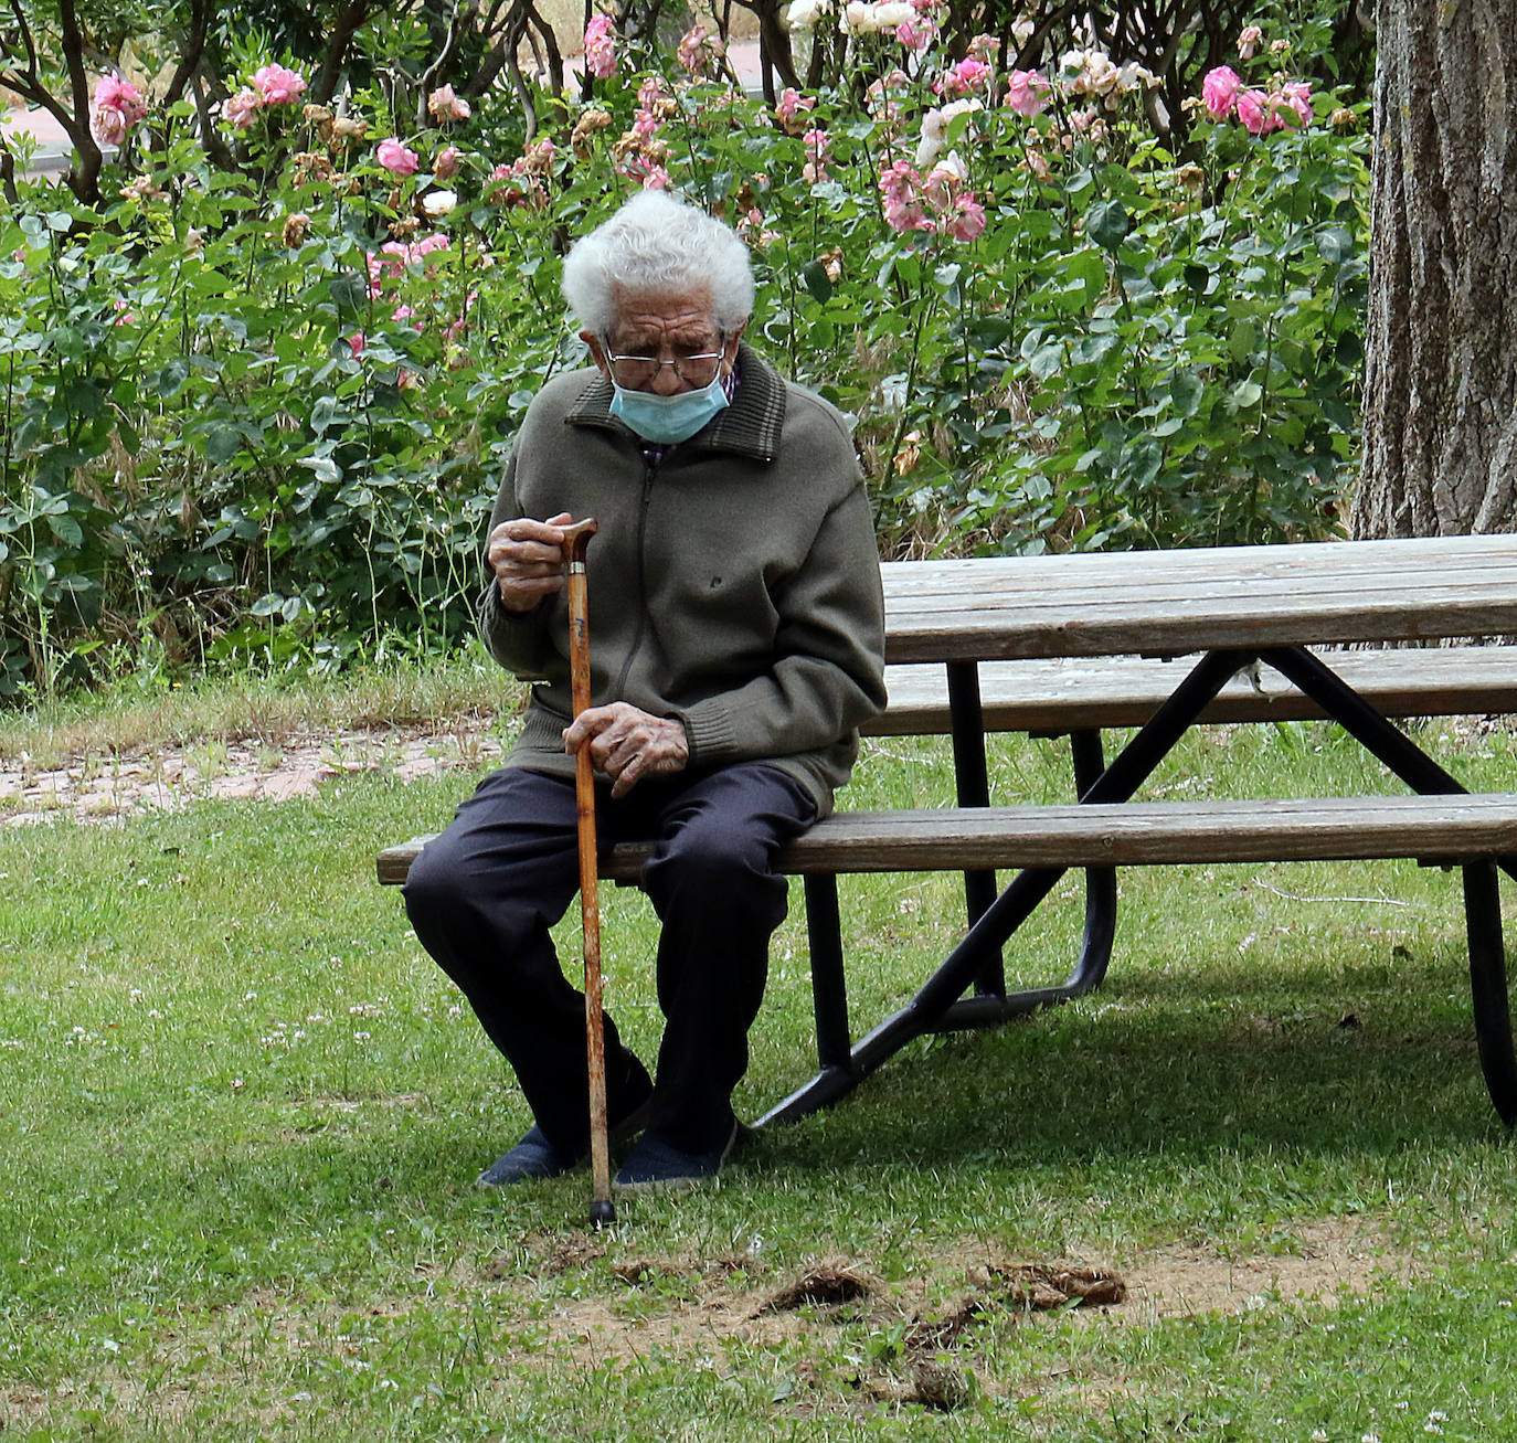
[[[1512,784],[1503,731],[1443,730],[1471,784]],[[994,772],[1065,795],[1051,742]],[[948,778],[942,747],[889,742],[848,801]],[[1456,876],[1127,872],[1100,992],[919,1041],[719,1188],[622,1202],[598,1235],[583,1176],[473,1187],[526,1112],[372,880],[469,784],[0,828],[5,1438],[1517,1434],[1517,1187]],[[1197,736],[1150,792],[1365,786],[1394,789],[1283,727]],[[651,913],[604,900],[608,1001],[651,1053]],[[813,1062],[793,901],[748,1115]],[[960,907],[953,879],[846,882],[856,1027]],[[1062,976],[1079,915],[1068,879],[1013,979]],[[1126,1299],[1033,1306],[1018,1267],[1057,1262]]]

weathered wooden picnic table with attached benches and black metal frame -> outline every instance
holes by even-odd
[[[1517,795],[1467,795],[1390,719],[1517,710],[1517,648],[1405,649],[1517,636],[1517,537],[903,561],[883,575],[892,706],[869,730],[950,733],[957,806],[843,810],[783,851],[806,886],[818,1073],[760,1124],[836,1102],[927,1032],[1095,988],[1117,930],[1117,866],[1349,857],[1461,866],[1481,1064],[1497,1112],[1517,1120],[1496,883],[1499,868],[1517,876]],[[1297,716],[1340,722],[1409,794],[1135,800],[1197,722]],[[1113,725],[1138,730],[1107,762]],[[992,806],[986,731],[1006,728],[1069,736],[1076,801]],[[404,879],[420,841],[381,853],[381,879]],[[602,871],[636,882],[645,853],[617,847]],[[1003,886],[1006,868],[1016,874]],[[1074,968],[1007,992],[1003,950],[1069,868],[1086,874]],[[966,932],[854,1042],[837,876],[930,869],[965,872]]]

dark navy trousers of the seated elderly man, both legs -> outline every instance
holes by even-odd
[[[654,841],[640,879],[658,913],[657,986],[666,1024],[649,1130],[684,1152],[721,1146],[748,1067],[748,1029],[784,921],[781,842],[815,819],[804,789],[774,766],[649,778],[598,795],[602,845]],[[405,906],[422,945],[458,983],[505,1055],[539,1127],[560,1150],[589,1144],[584,994],[566,980],[548,929],[579,888],[575,786],[520,768],[487,777],[411,865]],[[645,1099],[642,1067],[605,1017],[607,1111]]]

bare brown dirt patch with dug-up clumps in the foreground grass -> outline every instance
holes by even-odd
[[[545,1278],[583,1273],[536,1314],[531,1340],[499,1340],[502,1376],[523,1369],[639,1369],[649,1357],[678,1357],[716,1372],[752,1372],[754,1358],[787,1378],[775,1404],[825,1425],[840,1413],[913,1405],[954,1411],[978,1394],[1066,1391],[1098,1407],[1130,1379],[1097,1358],[1047,1373],[1003,1376],[997,1338],[1007,1328],[1145,1328],[1167,1320],[1283,1306],[1330,1309],[1415,1272],[1409,1253],[1364,1218],[1296,1225],[1279,1252],[1226,1256],[1214,1247],[1171,1244],[1107,1262],[1079,1256],[1013,1259],[963,1240],[924,1253],[915,1273],[881,1281],[868,1259],[827,1258],[777,1273],[755,1256],[651,1256],[630,1237],[539,1232],[508,1252],[460,1259],[455,1285],[435,1297],[376,1297],[364,1311],[397,1319],[417,1308],[467,1306],[479,1290],[540,1297]],[[1274,1244],[1271,1244],[1274,1246]],[[218,1313],[214,1338],[170,1332],[158,1347],[167,1373],[152,1397],[126,1378],[103,1382],[117,1405],[150,1404],[173,1417],[205,1385],[203,1343],[223,1358],[253,1346],[291,1360],[329,1358],[363,1366],[366,1338],[338,1326],[343,1316],[270,1288]],[[278,1369],[278,1363],[272,1363]],[[194,1375],[193,1387],[190,1375]],[[293,1384],[291,1384],[293,1387]],[[786,1391],[786,1388],[789,1391]],[[59,1394],[11,1385],[0,1391],[9,1422],[44,1420]]]

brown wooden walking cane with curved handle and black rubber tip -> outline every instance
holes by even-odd
[[[569,563],[569,675],[573,715],[590,706],[590,599],[584,554],[595,536],[595,517],[564,527]],[[616,1221],[611,1203],[611,1147],[605,1121],[605,1027],[601,1020],[601,898],[595,845],[595,771],[590,748],[575,754],[575,812],[579,819],[579,916],[584,932],[584,1041],[590,1073],[590,1226]]]

